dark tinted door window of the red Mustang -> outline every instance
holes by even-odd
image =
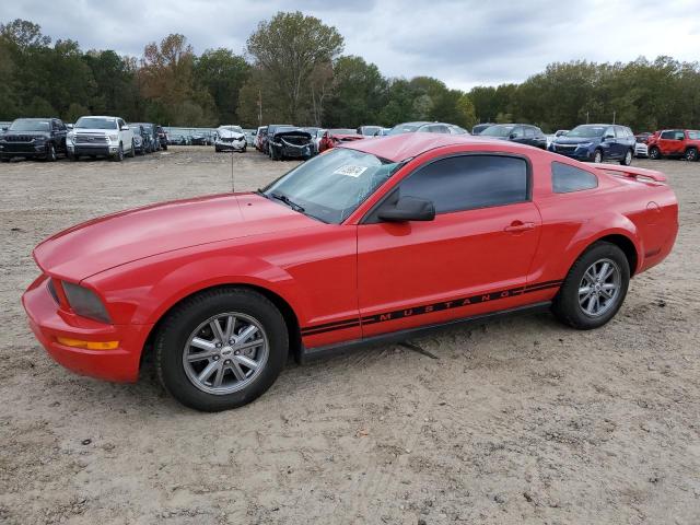
[[[501,155],[441,159],[399,185],[400,197],[430,199],[436,213],[523,202],[528,199],[527,163]]]

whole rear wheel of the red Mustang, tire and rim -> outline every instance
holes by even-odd
[[[620,310],[629,282],[630,267],[625,253],[615,244],[596,243],[569,270],[552,312],[573,328],[598,328]]]

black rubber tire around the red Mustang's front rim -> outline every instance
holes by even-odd
[[[190,381],[183,364],[183,352],[194,330],[224,313],[256,319],[267,336],[268,355],[249,384],[237,392],[219,395],[203,392]],[[159,329],[154,349],[155,368],[163,387],[187,407],[217,412],[241,407],[265,394],[284,368],[289,337],[284,318],[270,301],[252,290],[228,287],[201,292],[176,306]]]

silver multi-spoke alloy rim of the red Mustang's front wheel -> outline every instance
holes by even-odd
[[[228,312],[201,323],[183,350],[187,378],[202,392],[226,395],[248,386],[269,355],[262,325],[249,315]]]

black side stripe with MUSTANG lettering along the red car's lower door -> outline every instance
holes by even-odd
[[[562,280],[557,281],[544,281],[536,284],[529,284],[525,287],[511,288],[508,290],[501,290],[498,292],[480,293],[478,295],[471,295],[469,298],[453,299],[451,301],[441,301],[439,303],[425,304],[420,306],[411,306],[404,310],[395,310],[393,312],[384,312],[381,314],[369,315],[362,317],[362,325],[373,325],[375,323],[385,323],[388,320],[396,320],[402,317],[412,317],[415,315],[424,315],[433,312],[442,312],[445,310],[460,308],[469,306],[471,304],[485,303],[488,301],[495,301],[499,299],[506,299],[513,295],[522,295],[523,293],[539,292],[541,290],[548,290],[552,288],[561,287]],[[302,328],[302,336],[314,336],[316,334],[325,334],[332,330],[341,330],[346,328],[353,328],[360,326],[360,319],[357,317],[337,320],[335,323],[324,323],[322,325],[308,326]]]

